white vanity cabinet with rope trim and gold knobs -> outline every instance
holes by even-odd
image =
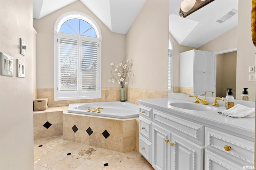
[[[172,109],[140,104],[140,153],[156,170],[252,167],[254,141],[238,137],[230,131],[233,126],[221,129],[214,127],[215,123],[198,122],[193,115],[188,118]]]

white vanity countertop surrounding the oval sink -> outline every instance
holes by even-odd
[[[177,96],[176,96],[177,97]],[[183,102],[194,104],[195,98],[189,98],[188,100],[177,98],[155,98],[155,99],[140,99],[138,102],[144,106],[153,107],[159,111],[166,113],[172,113],[177,117],[194,121],[207,127],[215,129],[224,129],[226,133],[236,135],[250,141],[254,141],[255,131],[255,117],[242,117],[242,118],[230,118],[218,113],[218,111],[226,110],[224,106],[212,106],[212,99],[209,100],[208,107],[214,107],[215,111],[196,111],[182,109],[178,107],[170,106],[170,103]],[[201,97],[202,98],[202,97]],[[202,98],[203,99],[203,98]],[[219,101],[218,101],[219,103]],[[236,103],[235,103],[236,104]],[[201,102],[196,105],[202,105]]]

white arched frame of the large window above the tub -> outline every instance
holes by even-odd
[[[68,92],[66,93],[67,95],[63,95],[63,94],[60,95],[60,92],[58,91],[58,77],[59,77],[58,76],[58,65],[57,65],[58,64],[58,42],[57,42],[58,41],[58,33],[61,33],[59,31],[60,31],[60,27],[62,26],[62,24],[65,21],[70,20],[70,19],[84,20],[84,21],[88,22],[90,25],[92,25],[92,27],[96,31],[96,37],[98,38],[98,59],[97,59],[97,62],[98,62],[98,68],[97,68],[98,90],[95,93],[88,92],[85,95],[84,92],[80,91],[80,92],[78,92],[78,93],[80,93],[80,95],[74,96],[74,95],[68,95]],[[70,34],[70,35],[74,35],[74,34]],[[84,35],[79,35],[79,36],[84,36]],[[90,39],[90,38],[95,38],[95,37],[87,37],[87,38]],[[102,35],[101,35],[100,28],[98,27],[97,23],[92,18],[90,18],[90,16],[87,16],[86,14],[83,14],[81,12],[67,12],[67,13],[63,14],[62,16],[60,16],[56,20],[55,25],[54,25],[54,100],[55,101],[101,98],[101,44],[102,44],[101,42],[102,42]],[[80,49],[79,49],[79,53],[80,53]],[[80,63],[80,61],[78,61],[78,64],[79,63]],[[80,70],[78,70],[78,71],[80,71]],[[78,79],[80,80],[81,76],[78,77]],[[89,94],[89,96],[87,94]]]

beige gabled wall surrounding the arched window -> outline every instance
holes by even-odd
[[[41,19],[34,19],[33,26],[37,31],[37,88],[54,88],[54,24],[66,12],[82,12],[90,16],[102,33],[102,88],[118,87],[108,82],[112,69],[110,63],[120,63],[125,57],[125,35],[112,33],[84,4],[76,1]]]

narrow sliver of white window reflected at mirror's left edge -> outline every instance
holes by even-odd
[[[172,92],[172,53],[173,53],[173,46],[172,41],[169,38],[169,53],[168,53],[168,92]]]

